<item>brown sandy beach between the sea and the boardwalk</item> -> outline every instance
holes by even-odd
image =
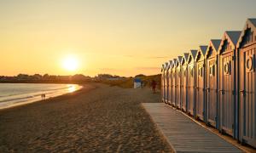
[[[160,102],[148,88],[88,84],[0,111],[0,152],[170,152],[140,103]]]

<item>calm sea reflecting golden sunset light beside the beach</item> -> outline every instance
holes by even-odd
[[[24,105],[61,94],[73,93],[83,88],[78,84],[0,83],[0,109]]]

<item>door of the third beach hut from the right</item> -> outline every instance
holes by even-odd
[[[207,67],[207,122],[216,126],[217,115],[217,62],[208,59]]]

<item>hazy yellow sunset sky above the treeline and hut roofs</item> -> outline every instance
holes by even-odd
[[[255,0],[0,0],[0,76],[132,77],[241,31]],[[73,57],[78,67],[63,62]]]

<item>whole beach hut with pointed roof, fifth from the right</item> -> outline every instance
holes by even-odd
[[[197,50],[190,50],[188,59],[188,113],[191,116],[195,115],[195,55]]]

